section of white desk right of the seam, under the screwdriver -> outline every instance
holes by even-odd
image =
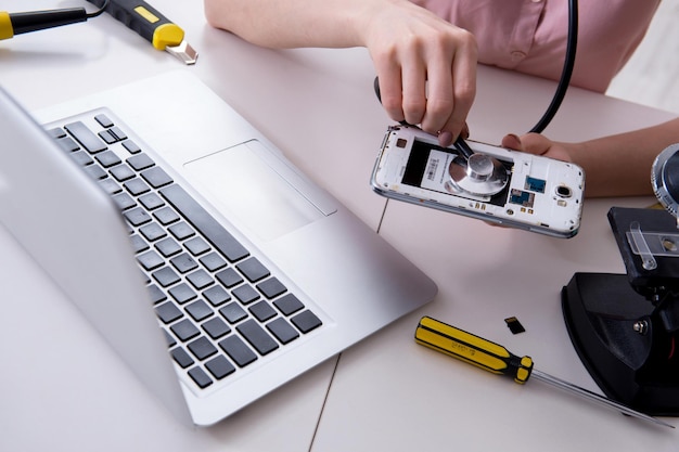
[[[552,85],[484,68],[470,118],[475,139],[497,143],[530,128]],[[526,96],[524,101],[521,96]],[[548,129],[558,140],[619,132],[669,115],[573,90]],[[575,272],[625,271],[606,220],[613,205],[589,199],[579,234],[555,240],[389,202],[380,233],[439,287],[434,302],[342,353],[313,451],[675,451],[677,431],[601,409],[539,382],[514,384],[419,346],[422,315],[451,323],[540,369],[598,391],[571,345],[560,290]],[[512,335],[504,319],[526,332]],[[666,418],[679,426],[676,418]]]

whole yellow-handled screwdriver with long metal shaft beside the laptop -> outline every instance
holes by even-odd
[[[560,389],[582,396],[630,416],[675,428],[674,425],[635,411],[606,397],[564,382],[561,378],[540,372],[533,367],[533,359],[530,359],[530,357],[517,357],[498,344],[430,317],[423,317],[420,320],[418,328],[415,330],[415,341],[488,372],[492,372],[494,374],[509,375],[518,384],[526,383],[528,378],[533,376],[534,378],[556,386]]]

